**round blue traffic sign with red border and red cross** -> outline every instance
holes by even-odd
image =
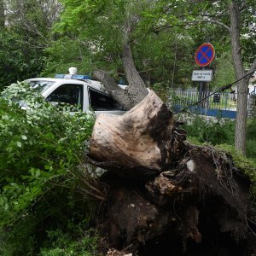
[[[214,56],[212,44],[201,44],[195,52],[195,63],[200,67],[206,67],[213,61]]]

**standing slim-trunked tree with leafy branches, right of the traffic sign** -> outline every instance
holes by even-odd
[[[236,79],[241,79],[256,69],[256,52],[253,37],[255,37],[256,3],[254,1],[187,1],[186,3],[162,1],[162,8],[166,10],[165,24],[173,24],[173,16],[178,19],[180,26],[190,29],[197,24],[211,24],[219,35],[230,43]],[[174,12],[175,9],[179,11]],[[170,15],[171,13],[171,15]],[[207,26],[208,27],[208,26]],[[216,33],[214,33],[216,35]],[[206,37],[203,37],[205,39]],[[241,38],[247,38],[245,40]],[[248,46],[249,43],[249,47]],[[201,42],[203,43],[203,42]],[[237,112],[236,112],[236,149],[245,154],[246,123],[247,123],[247,84],[250,76],[237,83]]]

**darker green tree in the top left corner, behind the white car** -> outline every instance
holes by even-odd
[[[44,49],[61,10],[55,0],[0,2],[0,90],[17,80],[36,77],[44,67]]]

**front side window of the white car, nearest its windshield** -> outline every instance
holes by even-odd
[[[83,85],[63,84],[54,90],[47,98],[49,102],[67,103],[76,108],[83,108]]]

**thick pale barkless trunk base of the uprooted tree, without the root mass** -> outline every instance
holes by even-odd
[[[172,113],[151,90],[122,116],[99,115],[90,140],[90,157],[115,162],[126,170],[143,167],[161,171],[181,153],[179,147],[184,139]]]

